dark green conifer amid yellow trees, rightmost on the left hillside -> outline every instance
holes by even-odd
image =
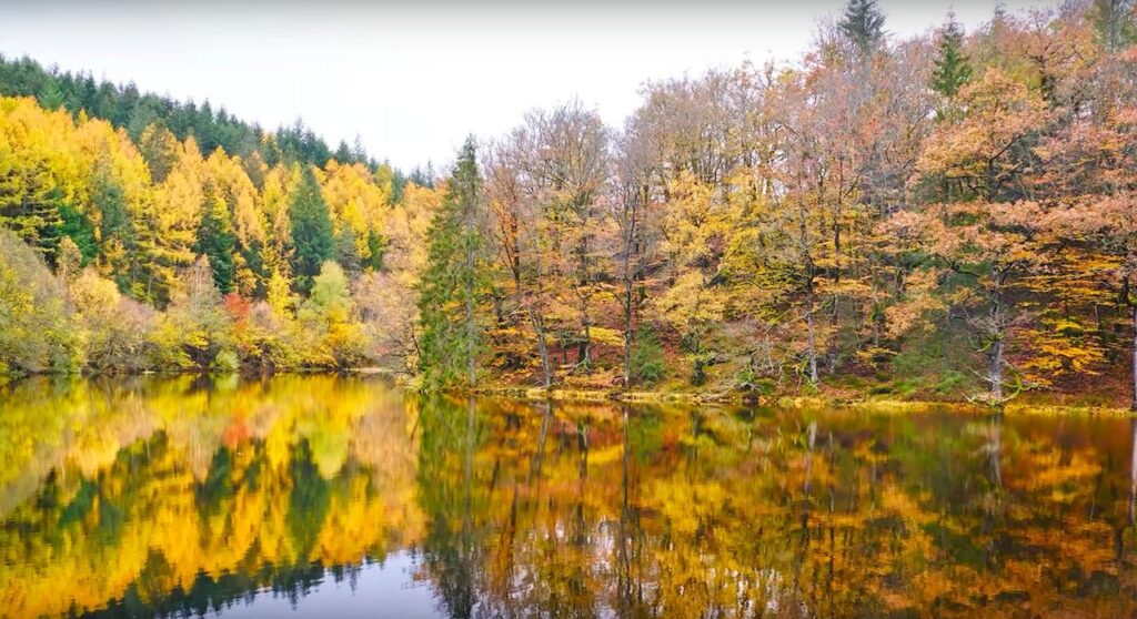
[[[319,194],[319,183],[310,166],[305,166],[289,204],[292,224],[292,273],[297,287],[307,292],[324,260],[335,256],[335,236],[327,204]]]

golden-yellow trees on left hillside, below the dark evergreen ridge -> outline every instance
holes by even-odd
[[[0,98],[0,374],[402,358],[440,193],[395,182]]]

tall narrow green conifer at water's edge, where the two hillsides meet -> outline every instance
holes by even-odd
[[[428,233],[426,273],[420,288],[420,369],[429,390],[476,383],[479,329],[474,303],[481,237],[476,229],[481,177],[475,143],[466,140],[446,196]]]

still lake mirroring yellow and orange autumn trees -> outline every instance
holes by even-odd
[[[0,387],[0,617],[1132,616],[1128,419]]]

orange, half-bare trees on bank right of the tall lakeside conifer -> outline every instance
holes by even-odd
[[[798,61],[648,84],[623,127],[532,112],[480,152],[481,362],[568,386],[1115,388],[1134,32],[1103,0],[902,41],[854,0]]]

